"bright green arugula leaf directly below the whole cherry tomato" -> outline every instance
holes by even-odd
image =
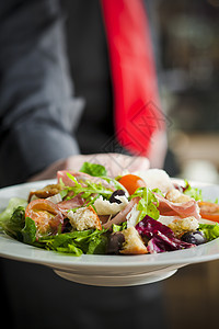
[[[154,193],[148,188],[139,188],[131,195],[131,198],[136,196],[140,197],[137,206],[137,209],[140,212],[138,223],[142,220],[146,215],[150,216],[153,219],[158,219],[160,216],[158,209],[159,201],[155,197]]]

